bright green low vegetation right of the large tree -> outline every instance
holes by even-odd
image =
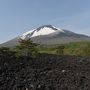
[[[73,42],[40,48],[40,53],[90,56],[90,42]]]

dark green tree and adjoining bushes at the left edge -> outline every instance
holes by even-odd
[[[22,40],[20,39],[19,45],[15,48],[8,48],[8,47],[0,47],[0,57],[6,58],[7,57],[36,57],[38,55],[38,44],[34,43],[31,40]]]

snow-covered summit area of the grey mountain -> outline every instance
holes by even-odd
[[[33,29],[31,31],[24,33],[21,36],[21,38],[22,39],[25,39],[26,37],[32,38],[32,37],[36,37],[36,36],[49,35],[52,33],[59,33],[59,32],[64,32],[64,30],[56,28],[56,27],[51,26],[51,25],[45,25],[45,26],[42,26],[42,27],[39,27],[37,29]]]

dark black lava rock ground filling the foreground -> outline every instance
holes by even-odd
[[[0,90],[90,90],[90,58],[0,57]]]

